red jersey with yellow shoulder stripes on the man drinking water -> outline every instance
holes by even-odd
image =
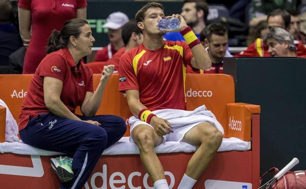
[[[120,58],[119,91],[138,90],[140,102],[151,110],[186,109],[186,66],[192,57],[183,41],[165,41],[155,51],[142,44]]]

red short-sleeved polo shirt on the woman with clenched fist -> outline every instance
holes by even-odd
[[[82,62],[76,65],[68,49],[48,54],[37,67],[22,104],[19,131],[26,127],[29,116],[50,112],[44,101],[45,76],[63,81],[60,99],[73,113],[83,103],[86,92],[94,92],[91,69]]]

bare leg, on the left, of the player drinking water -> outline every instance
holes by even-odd
[[[161,144],[163,138],[148,125],[138,125],[131,135],[139,148],[141,162],[153,183],[165,179],[164,169],[154,151],[154,146]]]

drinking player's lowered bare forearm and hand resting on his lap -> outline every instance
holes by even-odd
[[[139,91],[129,89],[126,90],[126,94],[130,111],[135,117],[138,117],[139,112],[147,108],[140,102]],[[151,118],[149,124],[153,126],[155,133],[160,136],[170,134],[170,132],[173,133],[171,129],[172,125],[167,120],[159,118],[156,115]]]

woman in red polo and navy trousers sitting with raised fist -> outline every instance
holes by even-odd
[[[19,116],[24,143],[73,157],[51,159],[62,181],[60,189],[81,189],[103,150],[127,129],[121,117],[95,116],[114,65],[104,66],[94,92],[92,71],[81,60],[92,53],[91,34],[82,19],[69,20],[61,31],[52,32],[47,56],[36,69]],[[77,106],[84,116],[74,113]]]

